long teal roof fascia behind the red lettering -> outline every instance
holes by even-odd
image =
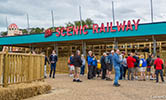
[[[134,26],[133,26],[134,27]],[[117,27],[113,27],[116,29]],[[66,41],[90,41],[90,40],[101,40],[101,39],[114,39],[116,38],[118,41],[126,41],[128,39],[132,39],[134,42],[137,38],[144,39],[152,38],[152,36],[156,36],[158,41],[163,41],[166,39],[166,22],[156,22],[156,23],[147,23],[147,24],[139,24],[138,30],[128,30],[128,31],[116,31],[116,32],[102,32],[102,33],[93,33],[92,29],[87,29],[88,34],[79,34],[73,36],[56,36],[56,32],[45,38],[45,34],[30,34],[30,35],[21,35],[21,36],[9,36],[9,37],[1,37],[0,45],[16,45],[16,46],[24,46],[29,44],[50,44],[50,43],[67,43]],[[124,40],[125,39],[125,40]],[[92,41],[93,42],[93,41]]]

